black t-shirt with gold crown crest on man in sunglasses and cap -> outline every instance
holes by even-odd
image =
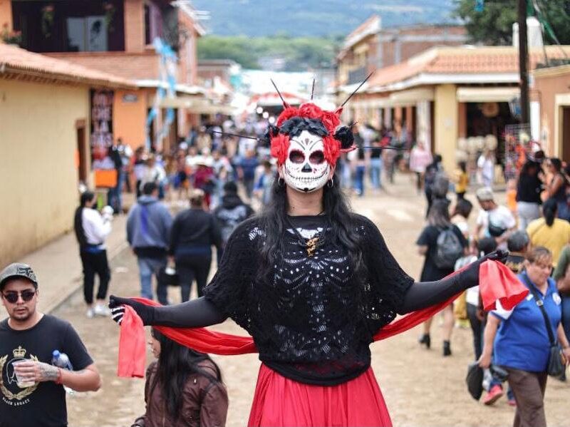
[[[36,326],[16,331],[0,322],[0,427],[67,426],[66,391],[53,381],[21,389],[16,384],[14,361],[31,359],[51,364],[53,350],[69,357],[74,371],[93,360],[67,321],[45,314]]]

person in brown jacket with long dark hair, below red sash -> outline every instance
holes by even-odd
[[[217,364],[154,328],[149,344],[157,361],[147,368],[146,412],[131,427],[225,426],[227,391]]]

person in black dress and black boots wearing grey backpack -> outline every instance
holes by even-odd
[[[455,262],[467,254],[468,242],[463,233],[450,220],[450,213],[445,200],[435,200],[432,203],[430,213],[427,216],[427,226],[423,229],[418,241],[418,252],[425,255],[421,282],[432,282],[443,279],[451,274]],[[443,310],[445,318],[443,332],[443,356],[451,355],[451,333],[453,329],[453,309],[448,305]],[[423,324],[423,334],[420,336],[420,344],[425,344],[427,349],[431,346],[430,327],[432,318]]]

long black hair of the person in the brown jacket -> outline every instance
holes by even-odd
[[[160,384],[167,412],[172,420],[177,420],[182,412],[184,390],[188,377],[192,374],[198,374],[205,376],[209,381],[222,383],[222,372],[207,354],[182,346],[155,328],[151,329],[151,333],[160,342],[160,355],[158,356],[157,374],[151,385],[150,394],[152,394],[155,386]],[[204,360],[212,362],[216,371],[215,376],[198,366],[199,362]]]

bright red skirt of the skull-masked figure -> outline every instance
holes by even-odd
[[[392,421],[372,368],[338,386],[311,386],[261,364],[247,425],[391,427]]]

